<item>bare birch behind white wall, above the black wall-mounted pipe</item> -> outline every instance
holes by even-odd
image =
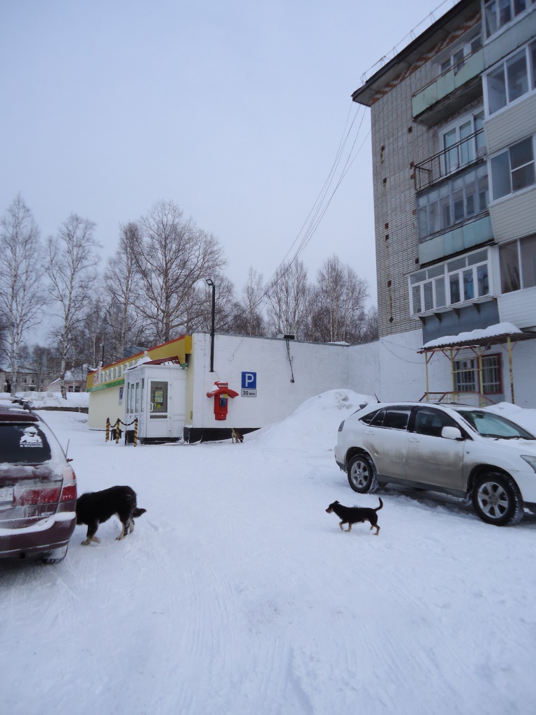
[[[268,293],[268,320],[275,335],[304,336],[308,292],[307,270],[302,261],[279,267]]]

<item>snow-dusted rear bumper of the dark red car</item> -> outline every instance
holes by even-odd
[[[0,558],[37,556],[61,548],[69,543],[75,526],[76,513],[64,511],[31,526],[0,528]]]

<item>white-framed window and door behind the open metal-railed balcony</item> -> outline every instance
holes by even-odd
[[[457,119],[440,134],[442,174],[450,174],[482,157],[485,152],[484,110]]]

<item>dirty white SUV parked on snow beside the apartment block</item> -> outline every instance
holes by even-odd
[[[496,526],[536,508],[536,437],[490,410],[364,405],[339,426],[335,460],[362,494],[379,483],[444,492],[469,498]]]

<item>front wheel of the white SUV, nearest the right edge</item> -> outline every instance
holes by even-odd
[[[487,524],[517,524],[523,516],[523,503],[514,480],[505,474],[487,473],[475,481],[472,506]]]

